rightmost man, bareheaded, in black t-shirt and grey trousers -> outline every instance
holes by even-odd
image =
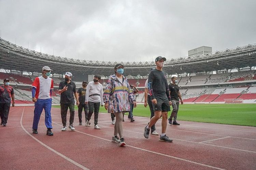
[[[179,98],[181,100],[181,104],[183,104],[182,98],[181,98],[181,93],[179,90],[179,86],[176,85],[176,83],[178,83],[178,80],[176,77],[172,77],[172,82],[171,84],[169,84],[169,90],[170,90],[170,96],[172,99],[172,114],[170,116],[169,120],[169,124],[173,124],[173,125],[180,125],[180,123],[176,122],[177,120],[177,114],[179,111],[179,105],[180,105],[180,101]],[[173,118],[173,122],[172,122],[172,118]]]

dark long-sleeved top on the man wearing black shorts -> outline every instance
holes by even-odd
[[[169,101],[171,100],[165,72],[157,69],[150,71],[148,85],[148,92],[152,100],[155,99],[154,95],[161,98],[167,97]]]

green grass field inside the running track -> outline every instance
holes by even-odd
[[[58,107],[60,106],[53,106]],[[75,107],[77,109],[77,107]],[[101,113],[107,113],[100,107]],[[168,113],[170,116],[171,112]],[[126,113],[126,115],[128,115]],[[150,117],[149,107],[138,104],[134,116]],[[184,104],[180,105],[177,120],[256,126],[255,104]]]

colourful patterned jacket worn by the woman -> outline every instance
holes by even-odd
[[[116,75],[111,75],[106,84],[103,94],[104,103],[108,102],[108,112],[128,112],[130,110],[129,101],[135,101],[133,92],[130,90],[128,80],[123,76],[123,84],[119,82]]]

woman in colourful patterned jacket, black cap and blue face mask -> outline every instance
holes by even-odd
[[[129,112],[129,100],[134,104],[134,107],[137,104],[133,92],[130,91],[128,80],[123,76],[124,66],[122,64],[116,64],[114,70],[115,74],[109,78],[103,98],[105,109],[116,116],[112,142],[120,143],[119,146],[122,147],[126,145],[123,137],[123,112]],[[117,134],[119,134],[120,140]]]

